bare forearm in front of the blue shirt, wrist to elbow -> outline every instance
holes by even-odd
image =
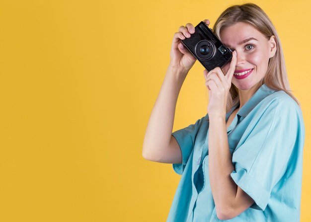
[[[234,170],[229,149],[225,116],[209,116],[209,177],[216,211],[230,212],[237,186],[230,174]]]

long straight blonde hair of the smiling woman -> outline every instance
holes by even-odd
[[[221,40],[221,29],[231,26],[236,22],[245,22],[253,26],[267,37],[268,40],[272,35],[275,36],[277,50],[274,57],[269,59],[267,73],[262,78],[261,85],[266,84],[271,89],[285,91],[301,107],[298,99],[291,93],[281,42],[268,15],[258,5],[253,3],[233,5],[228,7],[219,16],[214,25],[213,32]],[[238,89],[232,84],[228,95],[226,111],[229,112],[238,102]]]

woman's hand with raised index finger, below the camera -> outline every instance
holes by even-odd
[[[209,116],[226,116],[226,105],[229,90],[231,87],[231,80],[235,71],[236,65],[236,52],[233,52],[230,67],[224,75],[221,68],[216,67],[215,69],[208,72],[204,70],[203,74],[205,77],[205,85],[209,90],[209,103],[207,112]]]

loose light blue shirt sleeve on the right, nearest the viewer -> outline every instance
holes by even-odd
[[[264,211],[273,187],[286,171],[298,143],[301,109],[294,100],[275,98],[245,131],[248,135],[233,152],[233,181]]]

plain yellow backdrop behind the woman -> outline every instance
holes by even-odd
[[[236,0],[0,0],[0,222],[166,221],[180,176],[142,157],[180,25]],[[309,0],[255,0],[280,35],[306,125],[301,221],[311,221]],[[174,131],[206,115],[203,67]]]

